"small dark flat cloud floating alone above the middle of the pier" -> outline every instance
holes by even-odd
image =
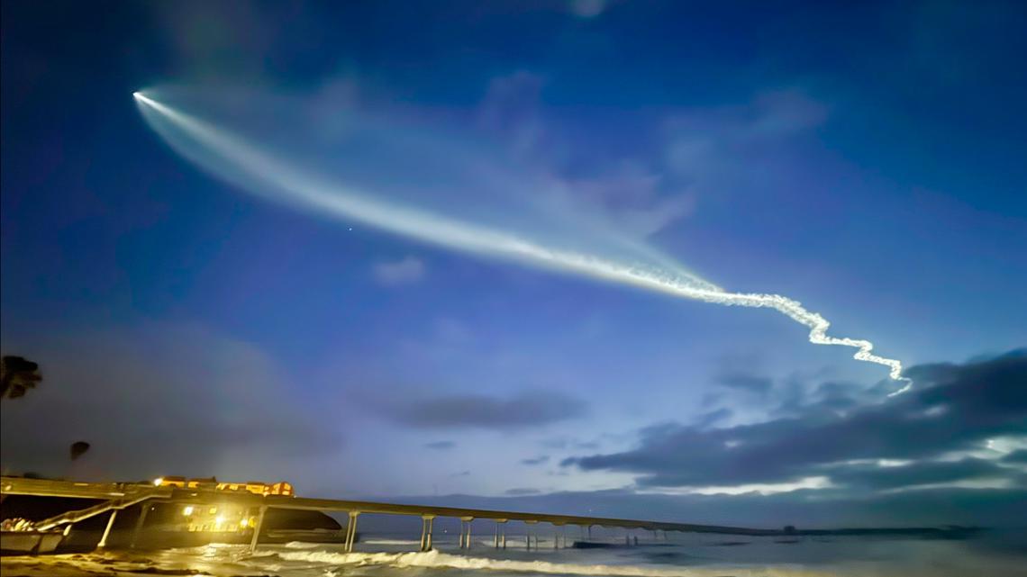
[[[486,394],[391,395],[371,399],[382,416],[418,429],[508,430],[580,417],[585,405],[563,393],[526,390],[502,398]]]

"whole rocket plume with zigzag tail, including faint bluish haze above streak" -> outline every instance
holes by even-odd
[[[177,152],[254,194],[453,249],[707,303],[771,308],[805,325],[811,343],[852,347],[855,359],[887,367],[902,383],[889,396],[912,385],[902,362],[874,354],[870,341],[829,336],[830,322],[798,301],[717,286],[570,208],[560,183],[506,169],[487,155],[487,146],[457,145],[447,134],[354,111],[261,97],[132,95]],[[183,111],[190,107],[214,111],[219,122]],[[467,192],[476,194],[469,201]],[[458,193],[464,196],[452,196]]]

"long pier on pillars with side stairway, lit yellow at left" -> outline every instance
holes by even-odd
[[[291,488],[290,488],[291,489]],[[476,520],[495,523],[493,544],[497,548],[506,547],[506,525],[509,522],[521,522],[527,526],[525,544],[527,548],[538,547],[538,524],[548,524],[554,530],[554,547],[566,547],[568,526],[578,526],[582,534],[591,536],[593,527],[624,530],[625,543],[630,543],[630,532],[634,530],[652,532],[658,535],[662,532],[681,533],[717,533],[724,535],[769,536],[781,535],[781,530],[749,529],[744,527],[721,527],[714,525],[693,525],[685,523],[668,523],[659,521],[637,521],[625,518],[607,518],[597,516],[561,515],[549,513],[533,513],[520,511],[497,511],[489,509],[470,509],[461,507],[440,507],[427,505],[406,505],[396,503],[377,503],[371,501],[345,501],[336,499],[310,499],[290,495],[260,495],[252,491],[218,491],[210,488],[180,487],[179,484],[137,484],[137,483],[76,483],[70,480],[33,479],[23,477],[0,478],[0,493],[7,495],[31,495],[37,497],[65,497],[101,500],[88,508],[68,511],[60,515],[43,520],[35,524],[38,530],[52,530],[59,527],[70,528],[75,523],[86,518],[109,513],[107,527],[100,539],[99,547],[107,544],[107,538],[119,510],[142,506],[142,513],[136,524],[131,536],[131,546],[135,546],[140,531],[146,524],[146,511],[149,503],[172,503],[185,507],[221,507],[233,506],[244,510],[256,511],[254,523],[249,523],[246,531],[252,531],[251,550],[260,544],[261,529],[264,515],[270,508],[291,510],[314,510],[321,512],[344,512],[349,516],[346,527],[344,544],[347,551],[352,551],[356,540],[356,523],[362,514],[395,514],[421,517],[422,551],[431,550],[434,520],[436,517],[455,517],[460,520],[460,548],[471,546],[471,522]],[[636,537],[637,539],[637,537]],[[534,543],[533,543],[534,541]]]

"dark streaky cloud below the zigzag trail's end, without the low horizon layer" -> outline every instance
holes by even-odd
[[[913,367],[906,374],[918,390],[886,402],[855,408],[828,386],[817,402],[845,401],[849,410],[803,411],[710,430],[653,425],[640,431],[636,449],[563,464],[637,473],[640,487],[653,488],[794,483],[825,474],[836,486],[853,489],[1002,477],[1002,470],[979,460],[941,461],[980,449],[992,437],[1027,434],[1027,350],[962,366]],[[914,463],[868,467],[880,460]]]

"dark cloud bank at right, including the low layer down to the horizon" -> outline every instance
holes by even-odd
[[[990,438],[1027,440],[1027,349],[965,364],[918,366],[907,375],[916,382],[913,391],[874,405],[857,402],[826,384],[815,402],[788,417],[712,429],[653,425],[640,431],[633,450],[572,457],[562,465],[637,473],[642,491],[811,476],[831,483],[828,489],[767,496],[635,497],[670,499],[672,509],[687,504],[687,517],[695,521],[706,514],[711,522],[745,521],[745,515],[733,516],[737,510],[772,513],[776,520],[799,515],[816,523],[823,517],[825,525],[836,515],[854,523],[1023,526],[1027,451],[996,458],[982,458],[982,452],[987,453]]]

